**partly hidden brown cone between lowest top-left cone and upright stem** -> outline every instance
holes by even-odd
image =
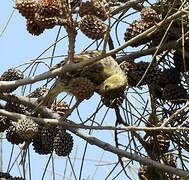
[[[56,25],[56,17],[45,17],[35,14],[35,21],[42,29],[52,29]]]

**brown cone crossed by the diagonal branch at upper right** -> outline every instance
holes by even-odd
[[[151,28],[154,25],[151,21],[144,21],[143,19],[134,20],[132,24],[126,29],[124,33],[124,40],[125,42],[131,40],[132,38],[136,37],[137,35],[143,33],[147,29]],[[139,45],[145,44],[149,42],[150,38],[143,38],[141,40],[135,41],[130,46],[137,47]]]

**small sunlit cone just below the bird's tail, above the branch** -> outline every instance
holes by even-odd
[[[65,101],[58,100],[53,102],[51,109],[57,112],[60,116],[64,116],[66,110],[69,109],[69,106]]]

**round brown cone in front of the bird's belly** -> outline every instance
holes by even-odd
[[[89,99],[94,94],[95,89],[94,83],[84,77],[75,78],[69,84],[69,92],[77,100]]]

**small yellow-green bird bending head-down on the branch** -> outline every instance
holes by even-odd
[[[87,61],[101,53],[101,51],[94,50],[75,54],[73,63]],[[55,65],[52,70],[59,68],[63,64],[65,64],[65,61]],[[82,69],[58,76],[54,85],[39,103],[38,107],[49,105],[61,92],[74,95],[81,102],[84,99],[89,99],[94,92],[103,96],[108,95],[109,92],[111,92],[110,94],[123,92],[126,85],[126,74],[121,70],[116,60],[108,56]]]

